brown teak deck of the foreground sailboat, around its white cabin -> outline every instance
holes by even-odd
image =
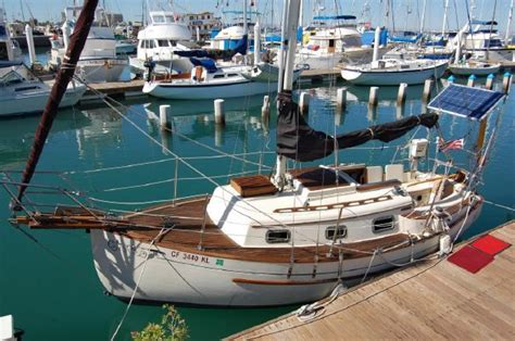
[[[185,252],[202,253],[218,257],[233,260],[244,260],[251,262],[276,262],[289,263],[291,261],[291,248],[241,248],[222,232],[209,218],[205,222],[204,233],[200,232],[203,224],[203,213],[209,198],[202,197],[187,202],[178,202],[175,206],[172,204],[149,209],[140,214],[133,214],[125,218],[133,224],[162,227],[164,225],[172,227],[163,238],[158,240],[159,247],[171,248]],[[150,215],[149,215],[150,214]],[[162,217],[161,215],[173,216]],[[145,242],[150,242],[158,236],[160,229],[151,230],[130,230],[125,232],[127,237]],[[374,252],[378,247],[388,249],[390,247],[405,247],[410,242],[409,236],[398,233],[387,236],[375,240],[368,240],[355,243],[346,243],[343,247]],[[202,251],[198,247],[202,245]],[[296,248],[296,263],[312,263],[315,257],[315,248]],[[337,249],[335,249],[337,250]],[[334,256],[326,256],[329,247],[318,248],[318,262],[335,262],[338,260],[338,251],[334,251]],[[343,257],[365,256],[362,252],[344,252]]]

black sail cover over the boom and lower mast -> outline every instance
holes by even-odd
[[[300,114],[299,105],[291,100],[291,93],[279,93],[279,115],[277,118],[277,154],[300,162],[314,161],[330,155],[335,147],[351,148],[370,140],[390,142],[402,137],[418,125],[432,128],[438,122],[437,114],[409,116],[399,121],[370,126],[338,135],[335,138],[316,131]]]

